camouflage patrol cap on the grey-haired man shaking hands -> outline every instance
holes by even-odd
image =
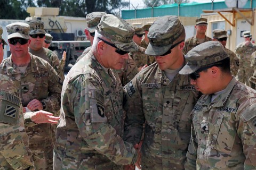
[[[132,40],[135,32],[132,25],[115,15],[106,14],[102,16],[97,32],[110,39],[117,48],[125,52],[133,52],[139,49],[138,45]]]

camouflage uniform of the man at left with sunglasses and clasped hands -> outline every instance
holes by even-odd
[[[57,113],[60,109],[62,81],[53,67],[42,58],[30,54],[31,61],[22,73],[11,60],[11,56],[3,60],[0,73],[7,75],[18,87],[22,106],[37,99],[44,101],[47,112]],[[53,161],[53,127],[49,123],[27,127],[29,149],[37,169],[52,169]],[[40,167],[40,168],[39,168]]]

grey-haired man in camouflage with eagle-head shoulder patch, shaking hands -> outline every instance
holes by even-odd
[[[122,28],[122,29],[121,29]],[[115,70],[138,49],[134,29],[112,14],[102,16],[93,45],[63,83],[54,169],[122,169],[140,162],[122,140],[123,88]]]

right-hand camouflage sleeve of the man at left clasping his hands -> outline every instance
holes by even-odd
[[[44,111],[57,113],[60,109],[62,80],[50,64],[47,64],[47,66],[49,67],[48,97],[42,100],[46,105]]]

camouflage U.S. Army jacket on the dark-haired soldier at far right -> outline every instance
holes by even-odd
[[[186,169],[256,168],[256,91],[233,78],[211,102],[204,95],[192,111]]]

